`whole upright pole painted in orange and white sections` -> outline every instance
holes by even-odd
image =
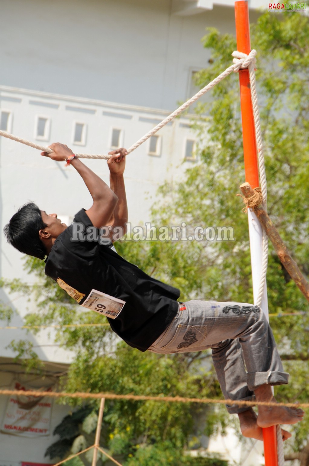
[[[235,1],[235,24],[237,50],[245,54],[251,51],[248,1]],[[242,112],[242,138],[245,161],[246,181],[256,188],[259,185],[255,124],[251,100],[250,76],[248,69],[239,70],[239,83]],[[259,221],[248,211],[249,237],[253,294],[257,296],[262,271],[262,227]],[[268,317],[266,281],[261,307]],[[265,466],[278,466],[276,426],[263,429]],[[266,441],[265,441],[266,439]]]

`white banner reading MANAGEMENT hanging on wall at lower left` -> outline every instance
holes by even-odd
[[[11,395],[2,421],[1,432],[23,437],[49,435],[52,399],[28,396],[27,390],[37,390],[13,384],[13,390],[24,390],[25,395]],[[51,391],[52,388],[44,389]]]

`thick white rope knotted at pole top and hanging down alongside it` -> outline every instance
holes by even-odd
[[[234,63],[238,63],[239,60],[245,59],[247,56],[242,52],[233,52],[232,54],[235,58],[233,59]],[[264,151],[263,151],[263,141],[262,141],[262,130],[260,123],[260,112],[257,103],[257,92],[256,92],[256,81],[255,81],[255,58],[249,63],[249,76],[250,76],[250,87],[251,87],[251,100],[253,108],[253,117],[255,124],[255,138],[258,154],[258,164],[259,164],[259,174],[260,174],[260,184],[262,188],[262,199],[265,210],[267,210],[267,183],[266,183],[266,171],[264,163]],[[267,274],[268,266],[268,236],[264,229],[262,229],[262,270],[260,277],[260,287],[258,295],[255,299],[255,304],[261,306],[262,296],[264,293],[264,285]]]

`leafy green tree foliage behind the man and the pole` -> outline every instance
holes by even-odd
[[[268,211],[300,268],[308,274],[309,20],[298,13],[266,13],[253,25],[251,34],[252,47],[258,51],[256,75]],[[232,36],[215,29],[209,29],[203,41],[211,50],[212,65],[198,73],[201,87],[231,64],[231,53],[236,49]],[[154,222],[158,226],[185,222],[188,235],[196,226],[230,226],[232,240],[123,241],[116,248],[148,274],[180,288],[183,301],[198,298],[252,302],[248,220],[242,213],[241,199],[236,197],[239,185],[245,181],[238,75],[230,75],[218,84],[211,103],[198,106],[197,112],[200,118],[194,120],[193,126],[201,137],[197,149],[200,163],[186,171],[181,183],[161,187],[153,209]],[[34,288],[38,312],[28,315],[27,324],[102,322],[101,316],[78,309],[62,289],[46,279],[37,260],[27,260],[27,267],[38,276]],[[282,269],[272,247],[267,281],[269,312],[280,315],[271,318],[271,325],[285,369],[291,374],[290,384],[276,389],[276,396],[284,402],[308,402],[308,302]],[[15,289],[18,286],[21,284],[15,283]],[[287,315],[296,311],[298,315]],[[220,396],[208,366],[207,370],[201,369],[209,357],[207,352],[167,356],[140,353],[119,343],[107,326],[63,327],[57,339],[76,354],[63,380],[66,390]],[[90,406],[94,411],[97,408],[95,403]],[[143,461],[150,465],[157,461],[157,448],[161,455],[169,455],[172,450],[190,446],[195,409],[202,408],[174,403],[107,402],[104,447],[127,455],[128,466]],[[209,432],[217,421],[224,428],[228,419],[223,414],[215,418],[210,412]],[[301,459],[302,466],[307,465],[302,458],[309,449],[309,421],[296,425],[294,430],[294,441],[286,442],[287,454],[291,459]],[[177,454],[164,464],[175,464]]]

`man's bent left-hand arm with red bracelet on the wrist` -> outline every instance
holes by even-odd
[[[70,158],[74,153],[65,144],[54,143],[49,146],[54,152],[41,152],[41,155],[58,162]],[[90,168],[84,165],[79,158],[74,158],[70,163],[81,175],[88,191],[93,199],[93,205],[86,211],[92,224],[97,228],[107,225],[113,215],[118,198],[116,194],[98,177]]]

